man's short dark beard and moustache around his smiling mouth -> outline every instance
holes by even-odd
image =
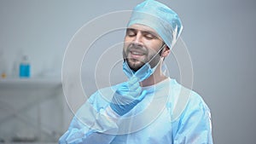
[[[132,58],[131,57],[131,51],[135,50],[139,51],[139,53],[143,54],[140,59]],[[136,45],[134,43],[131,43],[128,45],[127,49],[123,50],[123,57],[124,60],[127,61],[128,66],[131,68],[132,71],[137,72],[142,66],[145,65],[145,63],[149,62],[149,65],[152,67],[156,66],[158,62],[160,61],[160,52],[156,52],[154,50],[148,50],[147,48],[144,48],[140,45]]]

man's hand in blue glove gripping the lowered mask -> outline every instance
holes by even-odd
[[[139,79],[131,77],[126,83],[122,84],[113,95],[110,107],[119,116],[123,116],[135,107],[146,95],[146,91],[142,92]]]

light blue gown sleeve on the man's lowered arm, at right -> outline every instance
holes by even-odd
[[[174,144],[212,144],[211,113],[200,95],[193,93],[177,122]]]

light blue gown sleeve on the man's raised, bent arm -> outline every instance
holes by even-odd
[[[97,103],[104,103],[97,97],[99,97],[97,93],[91,95],[90,99],[79,108],[67,132],[59,139],[59,144],[108,144],[113,141],[115,135],[110,134],[118,130],[117,124],[112,119],[113,112],[108,108],[107,102],[106,107],[97,109]]]

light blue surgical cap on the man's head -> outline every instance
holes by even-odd
[[[127,27],[133,24],[153,28],[170,49],[183,29],[181,20],[172,9],[154,0],[146,0],[133,9]]]

